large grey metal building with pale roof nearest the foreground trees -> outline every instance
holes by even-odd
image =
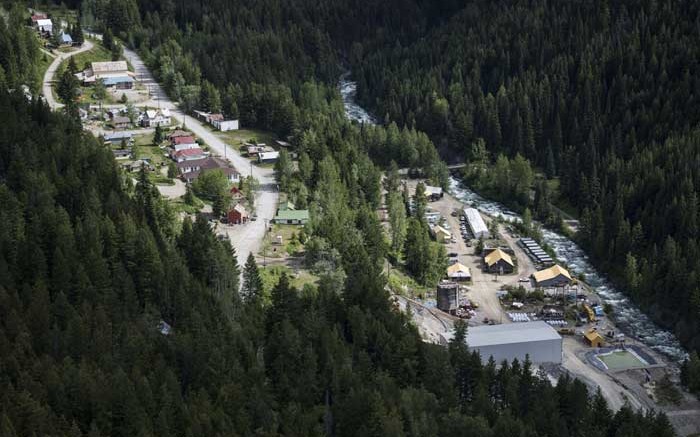
[[[452,336],[443,334],[443,340],[448,342]],[[562,338],[543,321],[470,327],[466,342],[470,350],[479,351],[484,363],[491,356],[496,363],[516,358],[522,362],[526,355],[535,364],[562,360]]]

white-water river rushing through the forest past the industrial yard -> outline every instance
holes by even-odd
[[[349,80],[347,74],[341,77],[338,86],[345,105],[345,115],[350,120],[361,123],[375,123],[374,117],[356,103],[357,84]],[[490,216],[498,216],[507,221],[520,220],[517,213],[498,202],[481,197],[454,177],[450,177],[450,192],[457,199],[473,204]],[[583,274],[586,283],[601,300],[613,307],[615,322],[622,332],[675,361],[684,360],[688,356],[678,339],[669,331],[657,326],[622,292],[616,290],[610,281],[593,267],[588,256],[575,242],[549,229],[544,229],[542,234],[544,242],[554,250],[559,261],[566,264],[573,274]]]

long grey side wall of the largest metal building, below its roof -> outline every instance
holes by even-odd
[[[469,348],[478,350],[481,354],[481,361],[486,363],[490,356],[496,360],[496,364],[501,361],[509,362],[517,358],[520,362],[525,360],[525,355],[530,355],[530,361],[535,364],[540,363],[561,363],[562,360],[562,339],[542,340],[533,342],[497,344]]]

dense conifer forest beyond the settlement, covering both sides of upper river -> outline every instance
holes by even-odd
[[[700,346],[697,2],[95,0],[82,9],[139,48],[186,106],[300,138],[309,87],[332,101],[349,68],[385,122],[380,138],[425,133],[453,161],[503,155],[516,163],[500,167],[506,178],[532,166],[555,192],[531,177],[535,199],[513,183],[492,191],[551,224],[548,202],[570,207],[596,264]],[[446,184],[436,154],[400,139],[373,144],[382,166],[393,160]]]

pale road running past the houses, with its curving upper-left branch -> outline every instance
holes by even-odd
[[[100,35],[94,36],[97,39],[101,37]],[[71,56],[91,50],[93,46],[91,41],[86,40],[83,46],[78,50],[58,55],[46,70],[42,92],[46,102],[52,109],[58,109],[63,106],[54,99],[51,89],[55,81],[54,76],[58,66]],[[151,95],[150,100],[140,102],[136,104],[136,106],[149,106],[151,108],[159,106],[161,108],[170,109],[173,117],[178,122],[184,123],[187,129],[204,140],[214,154],[225,157],[238,169],[241,175],[248,176],[252,174],[252,176],[260,182],[260,192],[255,202],[258,219],[250,221],[245,225],[220,225],[217,230],[219,233],[226,233],[229,236],[231,244],[236,249],[238,264],[242,266],[245,264],[248,254],[260,252],[265,237],[265,225],[272,220],[277,209],[279,193],[277,191],[277,183],[273,170],[271,168],[262,168],[255,165],[251,166],[247,158],[244,158],[236,149],[224,143],[215,131],[199,120],[183,113],[179,106],[170,100],[165,91],[163,91],[163,88],[155,80],[138,53],[125,47],[124,57],[134,68],[136,79],[148,88]],[[100,135],[102,130],[91,129],[91,132],[95,135]]]

